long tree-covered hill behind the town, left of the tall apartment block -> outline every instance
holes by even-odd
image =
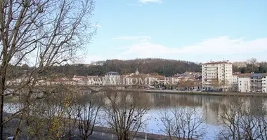
[[[174,59],[108,59],[106,61],[93,62],[92,64],[72,64],[53,66],[53,71],[64,76],[73,75],[98,75],[103,76],[108,71],[117,71],[120,74],[133,73],[138,69],[141,73],[159,73],[164,76],[173,76],[185,71],[200,72],[201,66],[195,62]],[[51,70],[52,70],[51,69]],[[45,75],[49,73],[44,73]]]

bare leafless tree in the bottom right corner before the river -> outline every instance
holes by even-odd
[[[256,98],[249,102],[234,97],[221,106],[219,120],[223,128],[217,139],[267,139],[266,107],[259,104],[259,108],[254,108],[253,104],[259,102]]]

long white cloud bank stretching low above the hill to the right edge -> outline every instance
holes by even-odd
[[[185,45],[182,47],[169,47],[152,43],[143,39],[131,46],[122,48],[122,55],[136,55],[136,57],[160,57],[166,55],[237,55],[267,51],[267,38],[245,41],[244,38],[232,39],[229,36],[209,38],[207,40]]]

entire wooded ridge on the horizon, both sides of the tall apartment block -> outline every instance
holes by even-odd
[[[13,70],[14,75],[21,76],[23,73],[29,73],[32,69],[26,64]],[[106,61],[93,62],[92,64],[65,64],[62,66],[53,66],[48,71],[42,73],[43,76],[57,74],[59,76],[72,77],[79,76],[104,76],[108,71],[117,71],[120,74],[133,73],[138,69],[141,73],[158,73],[163,76],[173,76],[176,73],[185,71],[201,72],[201,64],[195,62],[174,60],[174,59],[108,59]],[[233,64],[233,72],[240,73],[266,73],[267,62],[247,62],[244,66]],[[16,77],[15,76],[15,77]]]

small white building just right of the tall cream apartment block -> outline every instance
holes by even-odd
[[[237,75],[239,92],[250,92],[250,76],[252,76],[252,73],[242,73]]]

